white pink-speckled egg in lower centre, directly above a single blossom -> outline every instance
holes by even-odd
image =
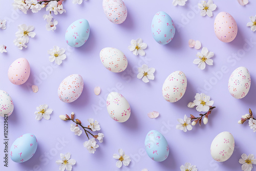
[[[106,98],[106,109],[110,117],[117,122],[125,122],[131,115],[130,104],[117,92],[111,92]]]

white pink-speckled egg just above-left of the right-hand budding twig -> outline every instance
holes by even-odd
[[[162,87],[163,98],[169,102],[180,100],[186,92],[187,78],[181,71],[175,71],[164,81]]]

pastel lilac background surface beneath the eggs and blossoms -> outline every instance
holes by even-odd
[[[65,1],[67,10],[62,15],[53,15],[59,22],[55,32],[46,30],[46,22],[42,15],[47,14],[42,10],[36,14],[13,14],[12,1],[0,1],[0,18],[9,19],[6,30],[0,30],[0,44],[7,46],[8,53],[0,54],[0,89],[7,91],[14,102],[14,112],[9,118],[9,145],[20,135],[31,133],[37,137],[38,148],[31,160],[25,163],[14,163],[9,159],[9,167],[1,170],[58,170],[55,163],[59,153],[70,152],[71,158],[77,161],[73,170],[179,170],[180,165],[191,162],[197,165],[200,171],[213,170],[241,170],[238,163],[241,155],[252,153],[256,141],[255,133],[250,130],[248,122],[238,124],[241,115],[248,113],[251,108],[256,114],[256,88],[255,88],[255,47],[256,37],[246,23],[249,16],[255,15],[255,1],[250,1],[245,7],[237,1],[215,0],[217,10],[213,17],[202,17],[197,7],[198,2],[188,1],[184,7],[174,7],[171,0],[165,1],[124,1],[128,16],[121,25],[111,23],[102,9],[102,1],[86,1],[82,5],[74,5],[72,1]],[[158,11],[165,11],[176,24],[174,39],[166,46],[159,45],[151,34],[152,18]],[[195,11],[195,12],[194,12]],[[225,11],[230,13],[238,24],[237,38],[226,44],[221,42],[214,33],[215,16]],[[190,19],[184,19],[189,17]],[[68,26],[79,18],[88,19],[91,27],[88,42],[80,48],[70,48],[65,42],[65,31]],[[13,44],[17,26],[20,24],[34,25],[36,36],[30,38],[28,48],[19,50]],[[148,48],[145,57],[134,56],[127,47],[131,39],[141,37]],[[206,66],[201,71],[193,64],[196,49],[188,47],[188,39],[200,40],[203,47],[215,52],[214,66]],[[254,42],[251,50],[241,57],[234,58],[232,54],[242,53],[246,41]],[[67,59],[45,74],[43,68],[51,66],[47,51],[53,46],[67,49]],[[105,47],[114,47],[121,50],[129,60],[127,69],[122,73],[112,73],[102,65],[99,52]],[[249,48],[249,46],[246,46]],[[7,76],[11,63],[25,57],[30,62],[31,75],[28,84],[37,84],[38,93],[31,93],[30,88],[23,84],[12,84]],[[155,80],[144,83],[136,78],[137,67],[146,63],[149,67],[156,68]],[[232,71],[240,66],[245,66],[251,74],[251,88],[243,99],[234,99],[228,92],[227,82]],[[214,73],[226,68],[226,72],[217,79]],[[183,98],[176,103],[169,103],[162,97],[161,89],[165,78],[174,71],[183,71],[187,76],[187,91]],[[130,74],[129,74],[130,73]],[[67,104],[58,99],[57,90],[60,82],[70,74],[80,74],[84,80],[84,90],[79,99]],[[39,79],[41,81],[35,81]],[[44,80],[42,80],[44,79]],[[208,85],[211,82],[214,85]],[[30,84],[30,85],[31,85]],[[121,85],[121,86],[120,86]],[[100,86],[102,92],[99,96],[94,94],[94,87]],[[215,101],[217,109],[212,111],[207,125],[194,126],[187,133],[176,130],[178,118],[185,114],[199,115],[195,109],[188,109],[187,103],[194,100],[194,96],[201,89]],[[129,101],[132,109],[131,117],[127,122],[115,122],[107,113],[104,100],[110,91],[121,93]],[[47,103],[53,113],[50,120],[37,121],[34,112],[36,106]],[[94,112],[93,106],[99,110]],[[160,112],[160,117],[150,119],[147,113]],[[104,133],[104,142],[96,153],[89,154],[82,143],[87,140],[85,134],[75,136],[70,131],[70,123],[58,118],[61,114],[75,112],[84,124],[88,118],[97,119]],[[3,130],[3,118],[1,130]],[[168,141],[170,148],[169,157],[164,162],[158,163],[151,160],[143,152],[144,139],[150,130],[160,131]],[[215,162],[210,155],[211,141],[223,131],[231,132],[236,143],[235,151],[231,158],[224,163]],[[3,131],[1,131],[3,139]],[[58,139],[65,139],[69,143],[59,144]],[[2,144],[2,142],[1,142]],[[1,145],[1,160],[3,160],[3,145]],[[123,148],[130,155],[132,162],[129,167],[116,167],[116,160],[112,158],[118,148]],[[10,149],[10,146],[9,146]],[[49,159],[46,157],[48,156]]]

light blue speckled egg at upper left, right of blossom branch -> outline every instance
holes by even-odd
[[[86,19],[78,19],[72,23],[65,34],[66,42],[69,46],[78,48],[89,38],[90,25]]]

